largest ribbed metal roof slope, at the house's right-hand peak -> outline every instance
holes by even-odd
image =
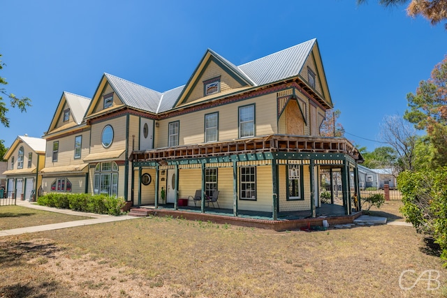
[[[295,77],[309,57],[316,38],[238,66],[257,85]]]

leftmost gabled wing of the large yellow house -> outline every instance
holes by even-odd
[[[42,191],[87,193],[89,169],[84,158],[90,151],[90,126],[84,120],[90,98],[64,92],[48,131]]]

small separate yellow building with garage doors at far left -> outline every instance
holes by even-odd
[[[3,172],[8,198],[29,200],[42,183],[38,172],[45,164],[45,140],[19,135],[3,158],[8,161],[7,170]]]

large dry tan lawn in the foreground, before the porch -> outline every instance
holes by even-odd
[[[273,232],[140,218],[1,239],[0,296],[441,297],[447,272],[433,253],[402,226]],[[401,290],[406,269],[439,270],[441,288]]]

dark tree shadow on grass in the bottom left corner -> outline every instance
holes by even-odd
[[[6,285],[0,288],[2,297],[34,297],[34,298],[44,298],[48,297],[48,293],[54,293],[59,288],[59,285],[54,282],[43,282],[36,283],[32,285],[31,283],[16,283],[14,285]]]

